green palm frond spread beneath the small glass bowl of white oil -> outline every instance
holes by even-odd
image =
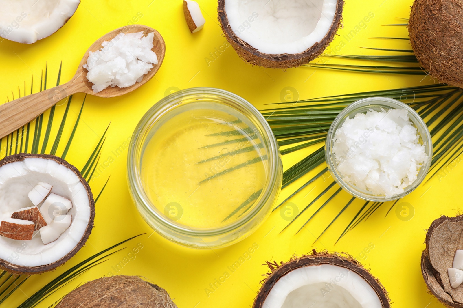
[[[431,169],[434,170],[434,172],[430,172],[428,175],[428,181],[437,174],[438,170],[457,159],[457,157],[463,153],[463,124],[460,124],[463,121],[463,92],[460,89],[448,85],[424,85],[392,90],[357,92],[332,97],[317,97],[294,102],[305,103],[304,105],[298,104],[296,106],[276,107],[273,109],[264,109],[261,112],[264,116],[267,116],[266,118],[268,119],[270,127],[274,131],[275,136],[278,138],[280,145],[283,147],[281,150],[282,154],[287,154],[306,148],[307,146],[324,143],[326,137],[325,132],[317,132],[319,133],[318,138],[313,138],[314,131],[320,129],[322,131],[326,131],[327,127],[331,125],[332,119],[340,112],[340,110],[343,109],[343,107],[357,101],[358,99],[370,96],[384,96],[401,100],[415,109],[417,113],[424,118],[426,124],[430,128],[434,146]],[[333,106],[339,106],[341,108],[333,108]],[[317,112],[314,113],[314,111]],[[309,142],[301,143],[306,140]],[[285,147],[294,143],[300,144]],[[325,153],[324,147],[322,146],[313,151],[300,162],[295,163],[292,167],[285,170],[283,173],[282,187],[287,187],[324,163]],[[315,175],[294,193],[290,194],[290,196],[276,208],[280,207],[297,193],[300,193],[300,191],[310,185],[313,181],[319,179],[326,170],[327,169],[325,168]],[[309,223],[325,206],[329,204],[334,196],[341,192],[340,188],[338,188],[334,192],[329,193],[334,185],[335,182],[329,184],[328,187],[319,193],[319,195],[317,195],[313,201],[311,201],[292,221],[290,221],[283,230],[287,229],[298,218],[300,218],[301,215],[316,201],[327,195],[326,201],[305,221],[305,223],[302,224],[302,227],[300,227],[297,232],[307,225],[307,223]],[[357,204],[355,199],[350,200],[341,212],[334,217],[332,222],[326,227],[322,234],[325,233],[332,223],[334,223],[334,221],[337,220],[348,207],[353,206],[354,204]],[[355,228],[363,220],[371,217],[382,204],[382,202],[365,203],[351,220],[347,228],[339,236],[339,239],[342,238],[348,231]],[[391,208],[393,206],[394,204]],[[322,234],[320,234],[320,236]]]

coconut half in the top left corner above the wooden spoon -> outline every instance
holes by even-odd
[[[80,0],[0,0],[0,36],[31,44],[50,36],[74,14]]]

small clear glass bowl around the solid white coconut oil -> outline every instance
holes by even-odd
[[[334,134],[336,133],[336,130],[343,125],[347,117],[351,119],[358,113],[366,113],[369,110],[381,111],[382,109],[407,109],[410,121],[413,123],[413,126],[416,127],[418,130],[418,134],[420,136],[419,143],[425,146],[425,153],[428,157],[427,161],[419,169],[416,180],[413,181],[413,183],[409,186],[405,187],[403,193],[389,197],[386,197],[385,195],[375,195],[368,190],[360,189],[359,187],[344,181],[343,175],[341,175],[338,172],[337,163],[334,157],[334,153],[332,151],[332,148],[334,146]],[[339,184],[339,186],[341,186],[345,191],[352,194],[353,196],[360,199],[375,202],[396,200],[411,193],[425,179],[425,176],[428,173],[432,162],[431,134],[429,133],[429,130],[423,119],[421,119],[418,113],[412,108],[410,108],[407,104],[404,104],[400,101],[397,101],[389,97],[363,98],[354,103],[351,103],[334,119],[326,136],[325,159],[326,164],[328,165],[328,170],[332,174],[334,180]]]

